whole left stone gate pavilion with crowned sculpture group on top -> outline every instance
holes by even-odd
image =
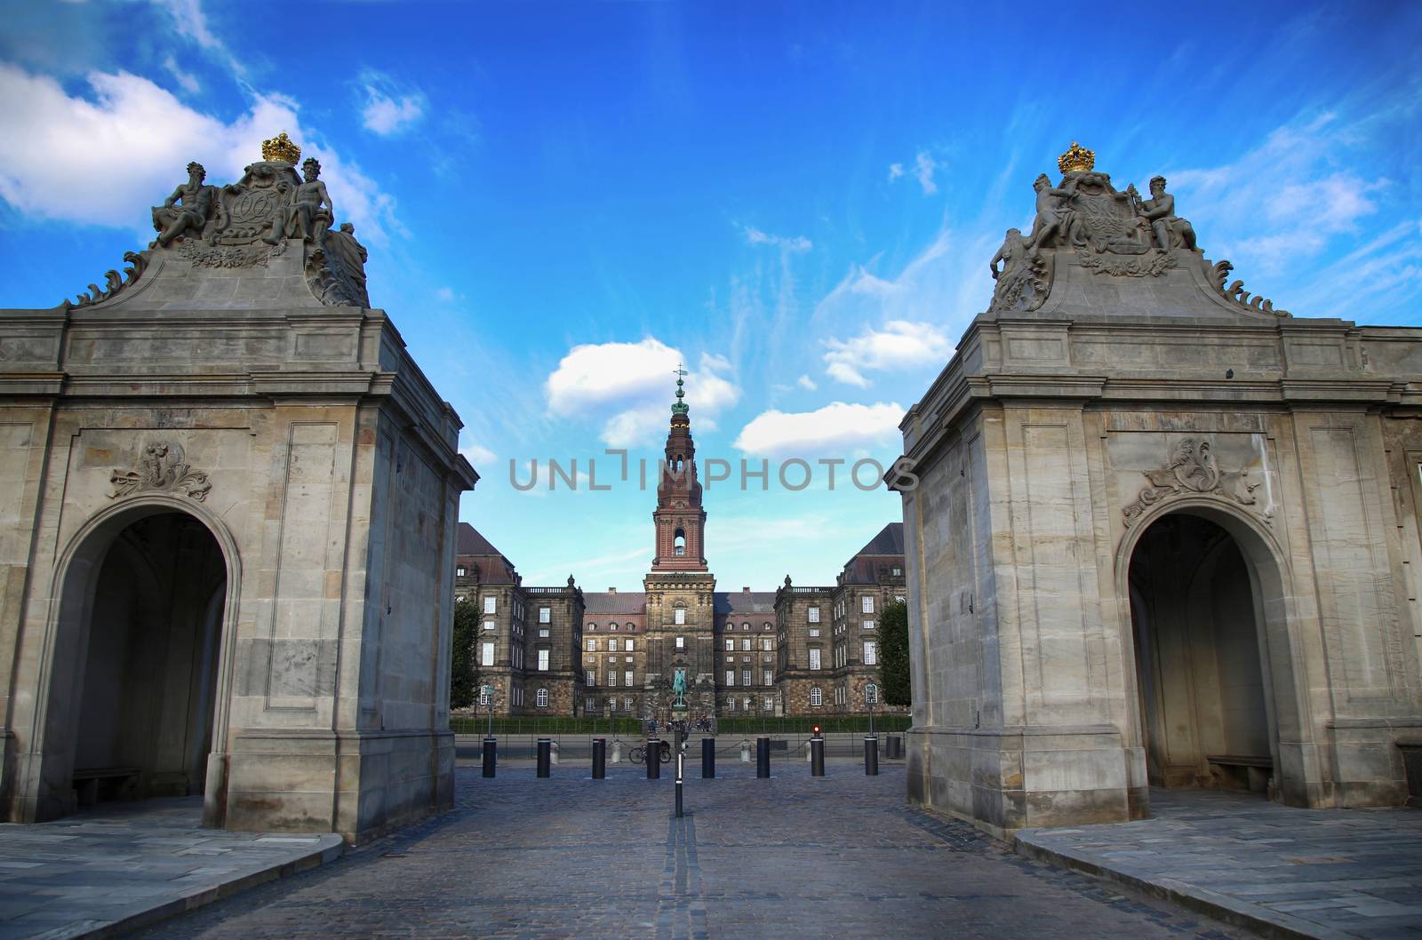
[[[361,840],[452,802],[476,475],[299,158],[189,165],[124,274],[0,310],[6,819],[202,794],[210,826]]]

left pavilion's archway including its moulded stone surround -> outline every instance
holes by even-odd
[[[228,539],[175,499],[104,513],[60,567],[33,819],[107,799],[205,795],[222,825]]]

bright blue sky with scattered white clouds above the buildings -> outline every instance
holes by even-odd
[[[1074,139],[1297,316],[1422,326],[1416,3],[0,9],[0,303],[84,290],[189,159],[233,181],[289,131],[528,583],[640,584],[654,493],[586,464],[656,458],[678,361],[700,455],[771,462],[707,492],[721,586],[832,582],[899,503],[816,461],[897,455]],[[577,492],[510,485],[549,456]]]

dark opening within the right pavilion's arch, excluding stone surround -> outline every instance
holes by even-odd
[[[1150,785],[1273,795],[1266,614],[1241,545],[1172,512],[1140,533],[1129,589]]]

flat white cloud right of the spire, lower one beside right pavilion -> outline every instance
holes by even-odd
[[[757,456],[848,454],[899,439],[903,405],[896,401],[850,405],[836,401],[816,411],[762,411],[735,438],[735,448]]]

